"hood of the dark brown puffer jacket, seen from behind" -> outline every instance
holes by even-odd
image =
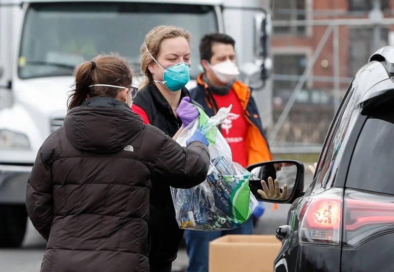
[[[80,150],[112,153],[130,144],[145,125],[124,102],[94,97],[72,108],[64,120],[68,140]]]

